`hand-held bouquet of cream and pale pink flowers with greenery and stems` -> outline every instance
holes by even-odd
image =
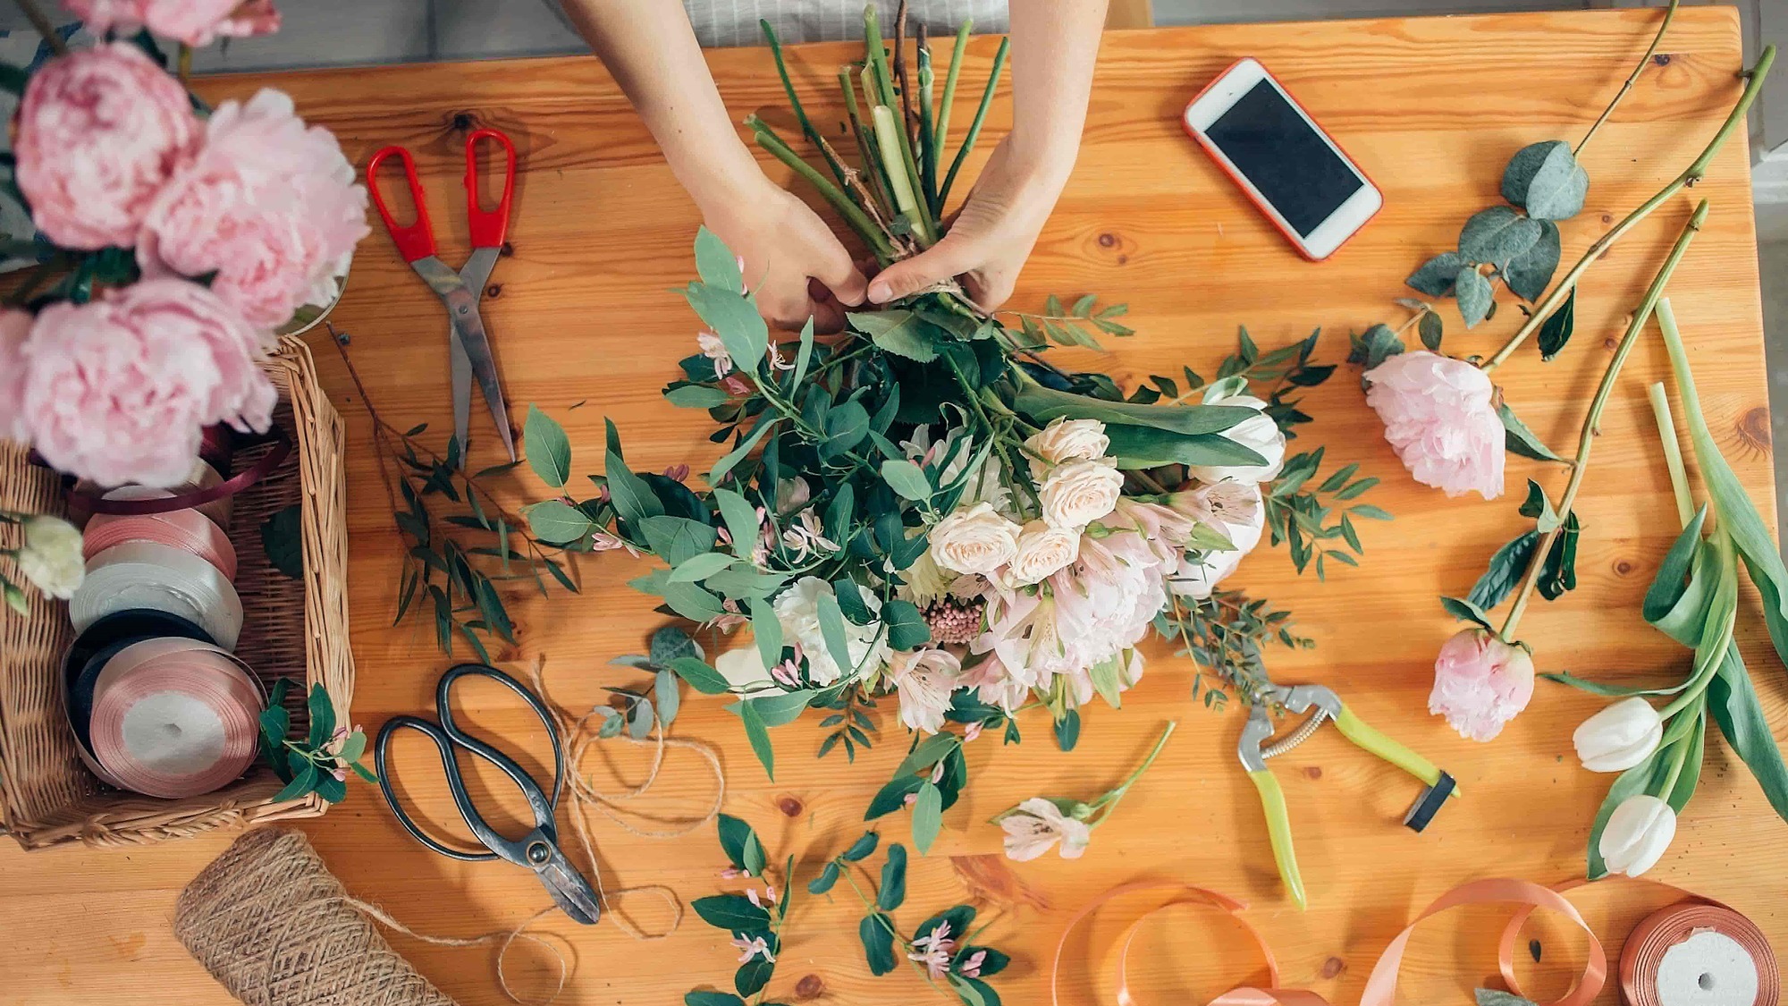
[[[932,125],[930,54],[917,52],[919,88],[896,98],[873,7],[865,41],[873,116],[855,111],[858,75],[840,73],[862,170],[819,140],[796,102],[844,188],[753,125],[894,261],[942,233],[955,170],[935,188],[944,134]],[[901,102],[917,115],[899,115]],[[980,115],[966,145],[978,125]],[[1125,394],[1107,374],[1042,360],[1051,340],[1130,335],[1116,320],[1123,306],[1092,295],[1071,306],[1051,297],[1041,315],[1008,324],[946,285],[849,315],[839,340],[817,340],[808,322],[776,345],[742,261],[708,231],[696,238],[696,265],[701,277],[685,295],[708,331],[663,394],[706,410],[712,439],[731,444],[708,489],[688,489],[679,473],[635,473],[610,424],[599,496],[536,503],[529,528],[574,550],[651,553],[665,566],[633,585],[665,610],[749,627],[751,643],[713,664],[685,657],[670,669],[703,693],[737,696],[730,709],[765,770],[771,727],[826,709],[821,755],[844,746],[855,757],[871,743],[864,709],[896,696],[915,746],[869,816],[910,802],[921,852],[966,782],[966,739],[1003,729],[1017,741],[1014,716],[1044,707],[1071,746],[1076,709],[1096,696],[1119,705],[1143,675],[1137,646],[1150,628],[1252,696],[1262,646],[1303,641],[1286,612],[1218,584],[1268,533],[1300,567],[1354,564],[1354,521],[1386,517],[1354,503],[1375,482],[1354,465],[1320,478],[1320,451],[1286,456],[1289,430],[1309,419],[1293,396],[1334,371],[1312,362],[1316,335],[1262,353],[1243,331],[1218,379],[1185,369]],[[529,422],[529,444],[563,446],[549,417],[535,410]],[[529,449],[529,460],[565,485],[558,451]]]

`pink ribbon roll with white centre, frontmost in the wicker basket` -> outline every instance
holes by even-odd
[[[254,764],[263,696],[216,646],[147,639],[114,655],[93,702],[93,755],[123,789],[211,793]]]

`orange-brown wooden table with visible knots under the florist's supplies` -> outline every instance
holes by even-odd
[[[1652,11],[1516,14],[1345,21],[1328,25],[1209,27],[1109,34],[1100,59],[1085,145],[1014,304],[1037,304],[1050,292],[1130,303],[1139,335],[1110,356],[1075,353],[1080,365],[1118,378],[1214,365],[1232,347],[1237,324],[1278,345],[1323,326],[1327,360],[1345,354],[1348,329],[1395,320],[1391,299],[1425,256],[1450,247],[1464,217],[1497,199],[1507,156],[1547,138],[1577,138],[1643,52]],[[969,81],[980,81],[992,39],[971,48]],[[851,47],[806,47],[794,54],[805,93],[828,91],[833,68]],[[1604,222],[1625,213],[1702,147],[1738,95],[1738,16],[1731,9],[1688,7],[1597,143],[1586,211],[1564,224],[1566,261]],[[1239,55],[1266,61],[1386,192],[1386,211],[1332,261],[1311,265],[1266,226],[1234,186],[1182,134],[1185,100]],[[1023,59],[1023,54],[1017,54]],[[728,106],[740,118],[780,109],[783,98],[767,52],[712,54]],[[465,131],[506,129],[522,156],[511,229],[513,256],[495,272],[485,315],[502,356],[511,415],[529,403],[558,415],[576,446],[574,471],[597,471],[601,422],[622,428],[635,467],[715,455],[708,428],[665,405],[660,385],[692,351],[696,320],[669,292],[694,274],[694,208],[665,170],[651,138],[594,59],[544,59],[401,66],[206,81],[211,98],[247,97],[272,84],[293,93],[313,122],[334,129],[350,158],[365,163],[383,143],[417,150],[427,174],[431,209],[449,260],[463,247],[460,145]],[[966,116],[973,88],[964,88]],[[833,107],[815,111],[831,122]],[[998,102],[989,140],[1008,127]],[[983,149],[991,143],[983,143]],[[787,177],[780,166],[774,177]],[[803,197],[808,193],[803,190]],[[1774,514],[1763,333],[1743,138],[1734,138],[1695,195],[1713,200],[1708,229],[1675,276],[1672,294],[1690,333],[1709,421],[1758,505]],[[1670,202],[1598,265],[1577,304],[1575,345],[1556,363],[1522,353],[1498,379],[1522,415],[1550,442],[1575,435],[1588,392],[1607,360],[1611,338],[1638,299],[1691,208]],[[1452,308],[1448,308],[1448,315]],[[336,320],[352,333],[352,354],[379,410],[395,424],[431,421],[445,439],[447,365],[434,301],[390,252],[383,234],[368,238]],[[1463,335],[1448,349],[1484,353],[1500,344],[1518,311]],[[377,727],[395,712],[431,705],[447,659],[426,625],[392,628],[399,539],[368,453],[368,422],[334,349],[315,340],[318,363],[352,430],[350,528],[354,652],[359,686],[354,720]],[[1665,464],[1656,446],[1643,385],[1666,374],[1661,345],[1643,342],[1607,412],[1604,439],[1582,496],[1586,532],[1581,589],[1538,605],[1522,635],[1543,669],[1584,675],[1681,673],[1688,657],[1647,628],[1638,600],[1674,537]],[[583,403],[581,406],[578,403]],[[1541,684],[1532,707],[1500,739],[1459,739],[1425,711],[1430,662],[1454,623],[1434,601],[1464,593],[1486,557],[1518,528],[1518,498],[1484,503],[1446,499],[1413,485],[1364,408],[1352,371],[1309,397],[1318,422],[1302,444],[1328,444],[1330,456],[1359,460],[1386,482],[1371,499],[1398,514],[1364,530],[1359,571],[1336,569],[1327,585],[1296,578],[1282,555],[1262,551],[1237,576],[1296,610],[1320,646],[1275,653],[1284,682],[1336,686],[1361,716],[1452,770],[1464,800],[1427,834],[1400,827],[1414,788],[1396,770],[1325,734],[1278,764],[1311,908],[1282,897],[1253,788],[1236,764],[1236,711],[1212,714],[1191,702],[1191,666],[1155,648],[1143,684],[1125,709],[1087,712],[1073,754],[1048,743],[1046,721],[1026,718],[1032,737],[999,748],[991,737],[971,746],[973,784],[944,816],[933,854],[912,866],[903,925],[958,900],[994,918],[987,938],[1016,956],[996,985],[1007,1002],[1048,1001],[1050,952],[1066,918],[1105,888],[1135,879],[1182,879],[1253,902],[1248,918],[1271,940],[1284,981],[1334,1002],[1354,1002],[1379,951],[1432,897],[1484,875],[1561,881],[1582,868],[1582,845],[1607,777],[1575,766],[1570,730],[1600,703]],[[479,415],[476,422],[481,422]],[[492,460],[492,439],[485,453]],[[1556,469],[1511,460],[1509,483],[1532,474],[1561,483]],[[519,480],[517,501],[538,494]],[[1556,489],[1554,489],[1556,490]],[[554,698],[586,707],[603,686],[640,684],[606,661],[638,652],[660,625],[651,603],[624,580],[638,562],[603,557],[581,566],[585,593],[551,601],[517,591],[511,612],[520,644],[499,661],[522,666],[547,657]],[[1754,605],[1754,600],[1750,601]],[[1754,607],[1747,607],[1745,652],[1772,718],[1784,716],[1781,666],[1768,653]],[[461,650],[463,657],[463,650]],[[485,730],[535,737],[527,714],[493,700],[474,711]],[[1019,798],[1094,795],[1121,779],[1168,720],[1182,729],[1162,761],[1096,834],[1087,857],[1048,857],[1012,865],[999,856],[999,831],[987,818]],[[858,764],[814,761],[810,725],[776,734],[781,773],[769,782],[753,761],[737,720],[715,700],[688,696],[676,732],[721,748],[726,809],[763,834],[772,859],[796,854],[805,866],[837,852],[862,829],[862,807],[887,779],[903,748],[898,721],[883,712],[883,743]],[[624,777],[638,779],[640,752],[613,746]],[[420,755],[418,755],[420,757]],[[1781,865],[1788,825],[1775,820],[1743,766],[1724,743],[1711,745],[1702,791],[1683,822],[1659,879],[1731,900],[1788,947],[1781,908]],[[411,763],[406,763],[411,764]],[[595,764],[595,761],[592,761]],[[413,763],[409,779],[420,779]],[[601,773],[601,766],[595,766]],[[604,779],[606,780],[606,779]],[[424,800],[451,816],[438,788],[415,782]],[[610,788],[617,788],[610,784]],[[669,809],[699,809],[712,789],[699,764],[674,757],[654,797]],[[379,795],[350,786],[325,818],[304,825],[349,890],[386,904],[411,925],[438,934],[476,934],[513,925],[544,895],[531,877],[501,865],[460,865],[431,856],[406,838]],[[890,836],[905,816],[889,818]],[[712,829],[679,840],[642,840],[595,820],[610,884],[670,884],[683,899],[722,888],[724,865]],[[225,1002],[225,993],[173,942],[168,927],[177,890],[232,836],[218,834],[129,852],[61,848],[25,856],[0,850],[0,1002]],[[1606,886],[1579,899],[1611,947],[1650,908],[1663,904],[1643,884]],[[628,902],[642,924],[660,922],[647,902]],[[771,999],[780,1002],[910,1002],[932,995],[905,968],[873,979],[860,958],[855,899],[840,888],[833,904],[808,899],[792,920]],[[1464,913],[1430,924],[1405,967],[1405,1002],[1463,1002],[1493,972],[1495,913]],[[1121,913],[1101,918],[1109,940]],[[694,986],[724,985],[733,952],[721,934],[690,916],[660,943],[635,945],[604,924],[581,931],[549,924],[570,940],[578,970],[561,1002],[674,1002]],[[1539,986],[1559,993],[1581,961],[1581,938],[1538,925],[1547,974]],[[1185,911],[1144,936],[1141,985],[1153,1001],[1173,992],[1216,993],[1243,979],[1262,979],[1234,927]],[[501,1002],[485,951],[447,951],[395,938],[426,976],[468,1004]],[[520,985],[538,979],[545,958],[517,951]],[[533,985],[538,990],[538,985]],[[1443,995],[1445,999],[1436,999]],[[1109,1002],[1105,963],[1076,959],[1064,1002]],[[1200,999],[1202,1001],[1202,999]],[[1600,1002],[1613,1002],[1606,992]]]

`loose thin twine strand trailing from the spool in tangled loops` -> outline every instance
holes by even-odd
[[[601,716],[599,709],[603,709],[603,707],[592,707],[583,716],[572,720],[572,714],[567,712],[556,702],[552,702],[552,696],[547,693],[547,687],[545,687],[545,657],[544,655],[542,657],[535,657],[535,662],[527,669],[527,678],[529,678],[529,684],[533,684],[535,693],[545,702],[547,709],[552,712],[552,720],[554,720],[554,725],[560,730],[560,737],[569,739],[570,752],[569,752],[569,759],[567,759],[567,773],[569,773],[570,779],[567,780],[567,784],[569,784],[570,798],[572,798],[570,822],[572,822],[572,829],[578,832],[578,845],[583,847],[583,859],[588,865],[590,879],[595,884],[597,899],[601,899],[601,902],[603,902],[603,911],[608,915],[608,918],[611,918],[615,922],[615,925],[620,927],[622,933],[626,933],[628,936],[631,936],[635,940],[647,940],[649,942],[649,940],[663,940],[663,938],[670,936],[683,924],[683,900],[678,899],[676,891],[670,890],[665,884],[640,884],[640,886],[633,886],[633,888],[617,888],[613,891],[613,899],[611,899],[610,893],[608,893],[608,888],[603,882],[603,866],[601,866],[601,861],[595,856],[595,843],[590,840],[590,823],[588,823],[588,818],[586,818],[586,811],[590,811],[590,809],[601,811],[603,816],[606,816],[610,822],[620,825],[622,831],[626,831],[628,834],[640,836],[640,838],[678,838],[678,836],[688,834],[688,832],[692,832],[692,831],[706,825],[708,822],[712,822],[721,813],[721,806],[726,800],[726,773],[721,768],[721,755],[715,754],[715,750],[710,745],[703,743],[703,741],[665,736],[663,720],[658,716],[658,709],[654,707],[653,709],[653,729],[651,729],[651,734],[647,737],[633,737],[631,734],[624,734],[622,736],[622,739],[626,739],[633,746],[651,746],[653,748],[653,763],[651,763],[651,768],[645,773],[645,779],[640,784],[629,786],[629,788],[626,788],[626,789],[622,789],[619,793],[604,793],[603,789],[595,788],[595,784],[592,782],[592,777],[585,777],[583,775],[583,759],[585,759],[585,755],[588,755],[588,752],[597,745],[597,741],[603,739],[597,734],[597,729],[594,729],[590,725],[592,720],[595,720],[597,716]],[[606,720],[606,716],[604,716],[604,720]],[[703,757],[703,761],[708,763],[708,768],[713,772],[713,782],[715,782],[715,786],[713,786],[713,802],[708,806],[708,809],[701,816],[696,816],[696,818],[665,818],[665,816],[653,814],[649,811],[624,807],[624,804],[628,800],[637,800],[637,798],[644,797],[653,788],[653,784],[658,782],[658,773],[663,770],[665,750],[667,748],[692,750],[692,752],[699,754]],[[633,814],[635,818],[660,822],[660,823],[665,823],[665,825],[670,825],[670,827],[637,827],[624,814]],[[637,925],[631,918],[626,916],[626,913],[622,913],[617,908],[617,902],[620,899],[624,899],[626,895],[629,895],[629,893],[654,893],[660,899],[663,899],[663,902],[667,906],[670,906],[670,924],[662,933],[651,933],[651,931],[642,929],[640,925]],[[388,929],[392,929],[395,933],[402,933],[404,936],[409,936],[413,940],[420,940],[424,943],[431,943],[434,947],[485,947],[485,945],[495,943],[497,945],[497,985],[502,988],[502,993],[510,999],[510,1002],[517,1002],[519,1006],[547,1006],[547,1004],[554,1002],[560,997],[560,993],[565,992],[565,983],[570,981],[572,965],[570,965],[570,961],[565,959],[565,954],[560,951],[560,947],[554,945],[554,943],[551,943],[551,942],[547,942],[547,940],[544,940],[544,938],[540,938],[540,936],[535,936],[535,934],[527,933],[527,929],[531,925],[535,925],[542,918],[545,918],[549,915],[552,915],[554,911],[558,911],[556,904],[549,904],[549,906],[542,908],[540,911],[536,911],[531,916],[527,916],[520,925],[515,925],[513,929],[499,929],[499,931],[493,931],[493,933],[485,933],[483,936],[454,938],[454,936],[434,936],[434,934],[429,934],[429,933],[417,933],[409,925],[404,925],[402,922],[399,922],[397,918],[393,918],[388,911],[384,911],[377,904],[365,902],[365,900],[359,900],[356,897],[342,895],[340,899],[331,899],[331,900],[340,900],[342,904],[347,904],[347,906],[350,906],[350,908],[365,913],[368,918],[377,920],[381,925],[384,925],[384,927],[388,927]],[[547,995],[545,999],[535,999],[535,1001],[522,999],[520,995],[515,993],[513,988],[510,988],[510,977],[508,977],[508,972],[504,970],[504,961],[506,961],[506,958],[510,954],[510,949],[515,947],[515,940],[519,940],[519,938],[520,940],[527,940],[527,942],[531,942],[531,943],[535,943],[538,947],[545,947],[547,951],[552,952],[552,958],[558,961],[558,983],[554,985],[552,993]]]

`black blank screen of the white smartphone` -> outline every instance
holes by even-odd
[[[1269,81],[1257,82],[1205,136],[1305,238],[1366,186]]]

